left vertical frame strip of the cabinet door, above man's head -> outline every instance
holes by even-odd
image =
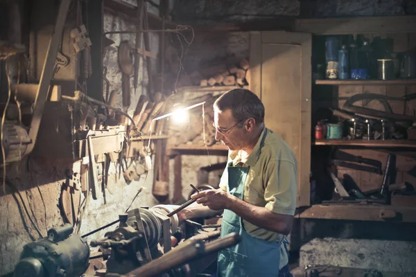
[[[248,87],[261,99],[261,34],[259,32],[250,32],[249,55],[250,71],[248,74],[250,76],[248,79],[250,82],[248,82]]]

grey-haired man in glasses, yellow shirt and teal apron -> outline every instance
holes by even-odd
[[[218,254],[218,276],[291,276],[285,240],[297,195],[291,148],[265,127],[263,103],[248,89],[233,89],[216,100],[214,127],[216,140],[229,148],[220,189],[192,195],[198,205],[180,217],[224,210],[221,235],[242,236]]]

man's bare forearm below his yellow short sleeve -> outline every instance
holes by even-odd
[[[260,228],[287,235],[291,232],[293,216],[273,213],[267,208],[254,206],[237,197],[232,197],[227,208],[243,220]]]

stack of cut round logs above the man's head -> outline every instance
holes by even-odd
[[[179,87],[239,86],[248,85],[250,66],[248,60],[224,62],[206,66],[189,75],[181,75]]]

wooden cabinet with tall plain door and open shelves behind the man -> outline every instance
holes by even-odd
[[[388,24],[385,24],[388,22]],[[311,145],[314,148],[335,145],[347,148],[406,151],[415,149],[415,142],[401,141],[313,141],[312,136],[312,84],[340,87],[340,93],[347,86],[354,89],[362,86],[377,90],[380,87],[406,87],[406,93],[413,92],[416,80],[312,80],[312,43],[320,35],[382,35],[395,37],[397,43],[404,41],[404,34],[416,46],[416,17],[361,17],[353,19],[297,19],[293,32],[265,31],[250,33],[250,90],[257,93],[266,108],[266,126],[277,132],[295,152],[298,163],[297,207],[299,217],[338,220],[380,220],[383,209],[392,210],[391,221],[415,222],[416,208],[371,205],[313,205],[311,206]],[[410,34],[412,33],[412,34]],[[397,46],[397,45],[395,45]],[[411,89],[409,87],[411,86]],[[319,86],[316,86],[319,87]],[[392,89],[385,89],[386,95]],[[315,94],[314,94],[315,95]],[[341,96],[341,94],[339,94]],[[335,97],[338,97],[336,94]],[[332,102],[338,102],[334,98]],[[341,100],[340,100],[341,102]],[[397,104],[397,103],[396,103]],[[341,105],[341,104],[340,104]],[[415,106],[416,109],[416,106]],[[323,145],[323,146],[322,146]],[[396,149],[397,148],[397,149]],[[384,161],[383,161],[384,162]],[[368,178],[367,178],[368,179]],[[367,180],[368,181],[368,180]],[[415,182],[416,183],[416,182]],[[413,184],[416,186],[416,184]],[[311,206],[311,207],[309,207]]]

